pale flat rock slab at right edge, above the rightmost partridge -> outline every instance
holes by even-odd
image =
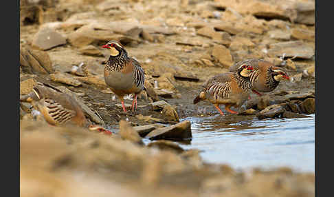
[[[311,59],[314,50],[302,41],[287,41],[269,45],[269,56],[282,56],[282,54],[285,54],[286,57]]]

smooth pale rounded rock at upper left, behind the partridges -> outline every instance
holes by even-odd
[[[43,26],[38,30],[32,41],[32,46],[38,50],[48,50],[64,44],[66,44],[65,37],[47,26]]]

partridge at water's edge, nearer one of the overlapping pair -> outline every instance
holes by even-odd
[[[230,110],[230,107],[239,107],[247,100],[249,90],[252,88],[252,83],[249,81],[252,71],[252,64],[243,63],[236,72],[225,72],[212,77],[203,84],[203,90],[194,98],[194,104],[208,100],[221,115],[224,113],[219,108],[220,104],[225,105],[227,112],[238,114]]]

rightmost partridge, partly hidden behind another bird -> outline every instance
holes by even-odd
[[[282,70],[282,68],[276,67],[269,61],[261,59],[247,59],[238,62],[230,67],[230,72],[234,72],[236,68],[243,63],[250,63],[253,65],[254,71],[249,77],[253,85],[252,91],[258,94],[258,96],[262,96],[259,92],[273,91],[281,80],[289,80],[289,75]]]

